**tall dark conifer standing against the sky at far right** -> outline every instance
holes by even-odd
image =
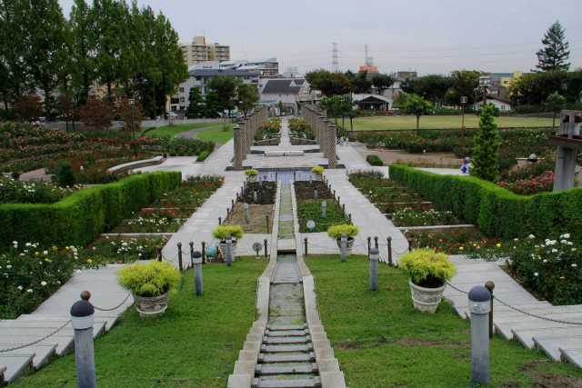
[[[566,61],[570,56],[568,43],[565,41],[564,29],[558,21],[550,25],[542,44],[544,47],[537,51],[536,67],[543,72],[552,70],[568,70],[570,64]]]

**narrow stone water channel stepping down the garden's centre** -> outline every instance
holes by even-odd
[[[292,185],[281,184],[277,240],[295,242]],[[277,252],[253,387],[321,386],[296,254]]]

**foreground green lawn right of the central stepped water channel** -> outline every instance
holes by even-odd
[[[435,314],[416,311],[407,276],[385,264],[378,268],[378,291],[368,291],[366,256],[341,263],[339,255],[312,255],[306,264],[347,386],[471,385],[470,325],[451,304],[441,303]],[[582,386],[582,371],[496,336],[485,386]]]

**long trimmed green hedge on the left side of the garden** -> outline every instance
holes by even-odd
[[[78,191],[55,204],[0,205],[0,246],[13,241],[85,246],[181,180],[180,172],[137,174]]]

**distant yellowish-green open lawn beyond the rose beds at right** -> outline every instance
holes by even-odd
[[[335,123],[335,119],[332,119]],[[498,127],[512,126],[552,126],[551,118],[543,117],[495,117]],[[341,125],[341,119],[338,119]],[[420,117],[420,127],[426,129],[434,128],[460,128],[460,115],[424,115]],[[478,128],[479,119],[475,114],[465,114],[465,127]],[[346,129],[350,129],[349,120],[346,120]],[[395,115],[395,116],[372,116],[356,117],[354,119],[354,131],[388,130],[388,129],[416,129],[416,116]]]

